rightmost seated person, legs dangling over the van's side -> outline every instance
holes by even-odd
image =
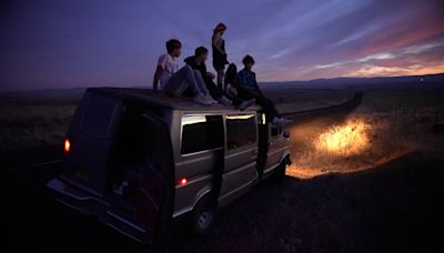
[[[290,123],[292,120],[282,118],[274,107],[274,103],[262,93],[261,89],[259,89],[256,74],[251,71],[254,65],[254,59],[246,54],[243,58],[242,63],[245,68],[239,71],[235,79],[232,81],[231,84],[234,88],[233,90],[239,92],[241,98],[244,100],[255,99],[256,103],[264,110],[268,122],[275,125]]]

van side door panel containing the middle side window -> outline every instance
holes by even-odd
[[[225,155],[221,205],[248,192],[255,178],[258,124],[255,113],[225,115]]]

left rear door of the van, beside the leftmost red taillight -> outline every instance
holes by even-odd
[[[103,196],[122,101],[87,91],[67,134],[62,178]]]

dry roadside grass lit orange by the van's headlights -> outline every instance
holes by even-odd
[[[414,93],[412,97],[415,100]],[[443,111],[440,104],[398,107],[389,99],[389,95],[367,98],[350,115],[296,124],[292,128],[294,163],[287,174],[313,178],[347,173],[384,164],[413,151],[444,150],[444,135],[433,131],[434,113]],[[385,104],[385,110],[381,104]]]

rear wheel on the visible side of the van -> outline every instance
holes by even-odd
[[[211,204],[209,195],[203,196],[194,206],[191,225],[195,234],[202,235],[211,230],[215,216],[215,208]]]

